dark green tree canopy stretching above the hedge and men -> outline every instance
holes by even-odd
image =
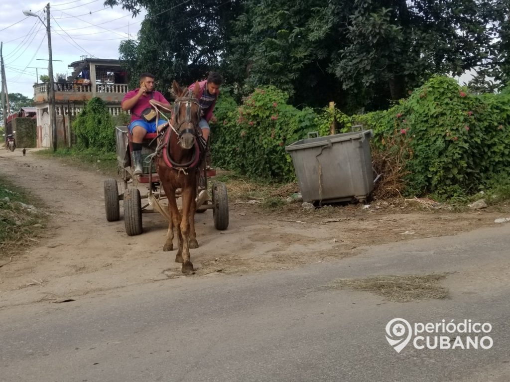
[[[275,85],[294,104],[388,106],[433,74],[510,75],[508,0],[107,0],[136,16],[120,58],[165,91],[219,69],[246,94]],[[477,81],[478,86],[483,81]],[[497,85],[499,86],[499,85]]]

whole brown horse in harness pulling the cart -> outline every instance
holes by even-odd
[[[173,250],[173,228],[177,232],[176,263],[183,263],[182,272],[193,272],[190,248],[198,248],[195,233],[196,192],[201,148],[199,144],[199,86],[194,91],[181,88],[175,81],[172,89],[177,97],[169,127],[157,158],[157,171],[168,198],[170,220],[164,251]],[[181,189],[182,213],[177,208],[175,190]]]

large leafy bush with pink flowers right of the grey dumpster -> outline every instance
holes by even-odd
[[[444,198],[507,177],[509,104],[509,95],[472,95],[451,78],[434,77],[390,110],[354,119],[373,129],[376,154],[399,136],[393,150],[405,162],[406,194]]]

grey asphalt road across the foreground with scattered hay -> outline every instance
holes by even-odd
[[[510,225],[335,263],[187,277],[0,311],[0,380],[510,381]],[[335,278],[454,272],[451,297],[389,302]],[[490,349],[397,353],[388,321],[489,322]]]

